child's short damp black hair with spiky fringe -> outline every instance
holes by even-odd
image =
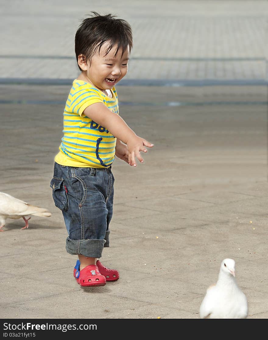
[[[129,23],[123,19],[115,19],[112,14],[100,15],[97,12],[91,12],[90,18],[83,20],[75,34],[75,55],[78,62],[78,55],[83,54],[85,61],[91,62],[92,56],[97,50],[101,50],[106,41],[110,44],[106,50],[107,55],[114,45],[117,45],[115,55],[122,48],[122,53],[129,46],[129,52],[132,48],[132,31]],[[79,65],[78,65],[79,67]],[[79,67],[81,70],[81,68]],[[82,70],[81,70],[82,71]]]

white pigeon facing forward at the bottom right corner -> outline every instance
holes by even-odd
[[[221,262],[218,281],[207,289],[199,314],[201,319],[246,319],[248,303],[235,280],[235,261]]]

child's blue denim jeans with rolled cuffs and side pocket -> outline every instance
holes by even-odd
[[[64,217],[69,254],[100,258],[103,247],[109,247],[113,183],[111,167],[77,168],[55,163],[50,186],[55,206]]]

